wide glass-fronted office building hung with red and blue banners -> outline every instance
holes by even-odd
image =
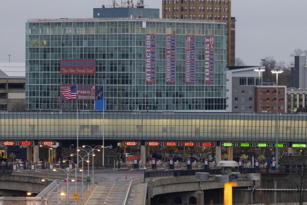
[[[94,59],[96,72],[60,74],[63,59]],[[226,63],[224,23],[150,18],[28,20],[26,108],[93,110],[94,100],[60,98],[60,85],[86,84],[96,90],[104,86],[107,110],[221,111],[226,109]]]

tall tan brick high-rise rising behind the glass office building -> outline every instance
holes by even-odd
[[[227,23],[227,65],[235,65],[236,20],[231,17],[231,0],[162,0],[162,18]]]

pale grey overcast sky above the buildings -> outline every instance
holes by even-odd
[[[8,62],[8,54],[11,62],[25,62],[28,18],[92,17],[101,5],[112,0],[0,0],[0,62]],[[161,0],[145,0],[145,5],[162,7]],[[268,56],[289,64],[294,49],[307,49],[306,8],[306,0],[232,0],[236,57],[247,65],[259,65]]]

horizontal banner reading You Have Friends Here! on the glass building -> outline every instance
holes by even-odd
[[[96,74],[96,60],[61,59],[60,74]]]

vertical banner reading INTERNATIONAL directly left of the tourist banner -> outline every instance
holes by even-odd
[[[195,35],[186,35],[186,83],[195,83]]]

